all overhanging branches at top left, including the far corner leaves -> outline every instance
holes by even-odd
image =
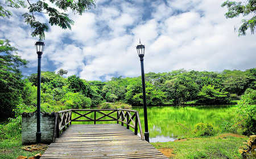
[[[49,24],[58,25],[62,29],[71,29],[73,25],[73,20],[69,19],[69,15],[66,14],[68,10],[72,10],[74,14],[82,15],[85,10],[89,10],[91,6],[95,7],[95,0],[79,0],[79,1],[67,1],[67,0],[50,0],[51,4],[48,4],[46,1],[37,1],[36,3],[28,2],[29,13],[24,13],[22,16],[25,19],[25,22],[35,28],[31,33],[32,37],[39,36],[40,39],[45,38],[45,33],[49,27],[47,23],[42,23],[36,20],[35,15],[47,14],[49,16]],[[19,8],[27,7],[24,1],[19,0],[6,0],[5,4],[0,3],[0,16],[10,18],[11,12],[6,10],[5,7]],[[63,12],[60,12],[63,11]]]

